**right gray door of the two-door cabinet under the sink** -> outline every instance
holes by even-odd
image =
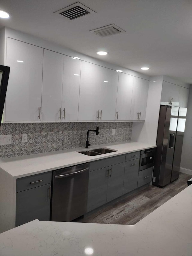
[[[125,162],[109,167],[107,202],[122,196]]]

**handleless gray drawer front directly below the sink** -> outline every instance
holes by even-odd
[[[125,162],[125,155],[117,155],[105,159],[101,159],[98,161],[90,162],[89,171],[98,170],[104,167],[108,167],[110,165],[119,164]]]

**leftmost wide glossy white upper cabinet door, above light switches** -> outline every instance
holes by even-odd
[[[5,121],[40,121],[43,48],[7,38],[6,65]]]

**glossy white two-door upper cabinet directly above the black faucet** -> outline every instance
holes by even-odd
[[[78,120],[114,121],[117,86],[118,72],[82,61]]]

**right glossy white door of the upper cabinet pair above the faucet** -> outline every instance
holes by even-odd
[[[101,83],[99,120],[114,121],[119,73],[109,68],[100,67],[98,77],[100,77]]]

